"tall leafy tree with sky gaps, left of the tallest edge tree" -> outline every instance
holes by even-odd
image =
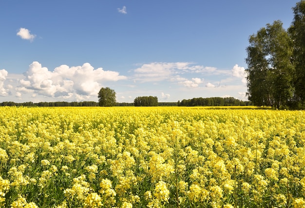
[[[291,39],[279,20],[249,37],[248,99],[255,105],[286,105],[291,100],[293,67]]]

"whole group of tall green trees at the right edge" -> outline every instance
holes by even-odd
[[[249,36],[248,100],[254,105],[305,107],[305,1],[293,8],[285,30],[280,20]]]

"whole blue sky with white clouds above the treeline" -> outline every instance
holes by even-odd
[[[0,102],[247,100],[248,37],[299,0],[0,0]]]

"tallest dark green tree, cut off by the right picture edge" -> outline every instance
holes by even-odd
[[[305,1],[293,7],[294,18],[288,32],[293,41],[294,86],[296,102],[305,103]]]

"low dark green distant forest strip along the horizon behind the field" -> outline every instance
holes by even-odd
[[[233,97],[229,98],[192,98],[189,100],[182,100],[181,102],[159,102],[158,106],[248,106],[252,105],[250,101],[240,101]],[[2,102],[0,106],[37,106],[37,107],[95,107],[98,106],[97,102],[94,101],[83,101],[83,102]],[[115,106],[134,106],[134,103],[116,103]]]

